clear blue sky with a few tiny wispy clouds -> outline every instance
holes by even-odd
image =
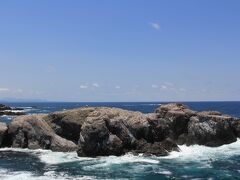
[[[240,100],[239,0],[0,2],[0,99]]]

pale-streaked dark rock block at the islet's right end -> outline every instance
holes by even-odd
[[[235,119],[216,112],[200,112],[190,118],[187,144],[221,146],[237,140],[231,123]]]

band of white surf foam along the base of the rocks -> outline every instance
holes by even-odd
[[[19,148],[0,148],[0,151],[15,151],[26,152],[37,155],[40,160],[46,164],[59,164],[67,162],[81,162],[92,161],[97,162],[96,165],[111,166],[113,164],[126,164],[126,163],[146,163],[146,164],[159,164],[162,159],[172,159],[176,161],[212,161],[215,159],[229,158],[234,155],[240,155],[240,139],[236,142],[223,145],[220,147],[206,147],[200,145],[179,146],[180,152],[173,151],[169,156],[165,157],[149,157],[143,155],[133,155],[131,153],[123,156],[106,156],[106,157],[78,157],[76,152],[53,152],[51,150],[30,150]]]

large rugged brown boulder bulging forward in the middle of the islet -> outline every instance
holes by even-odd
[[[81,150],[78,154],[121,154],[123,149],[132,149],[136,139],[148,136],[148,126],[146,116],[140,112],[95,108],[82,125],[79,140]],[[114,147],[114,151],[110,151],[111,147]]]

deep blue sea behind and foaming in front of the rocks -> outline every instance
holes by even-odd
[[[119,107],[151,113],[163,102],[4,103],[27,114],[49,113],[83,106]],[[216,110],[240,117],[240,102],[185,102],[198,111]],[[12,117],[0,121],[10,123]],[[180,146],[166,157],[78,157],[48,150],[0,149],[0,179],[240,179],[240,140],[217,148]]]

